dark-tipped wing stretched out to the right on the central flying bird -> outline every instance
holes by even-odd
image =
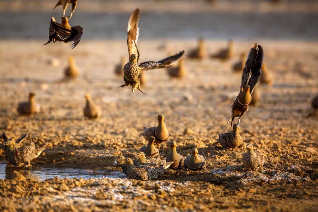
[[[160,61],[148,61],[141,63],[139,65],[140,69],[142,72],[152,70],[152,69],[158,69],[158,68],[164,68],[168,67],[169,65],[174,64],[177,62],[184,54],[184,51],[180,51],[179,53],[176,53],[170,57],[164,58],[163,60]]]

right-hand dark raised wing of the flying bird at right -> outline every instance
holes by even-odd
[[[250,93],[253,92],[256,83],[259,80],[262,63],[263,63],[264,52],[263,48],[258,45],[258,52],[256,59],[252,62],[251,65],[251,78],[248,80],[248,85],[250,85]]]

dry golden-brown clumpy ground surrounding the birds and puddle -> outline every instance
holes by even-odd
[[[301,10],[303,7],[294,5],[290,11],[316,16],[314,10]],[[130,10],[123,8],[126,15],[122,18],[128,21]],[[41,16],[48,15],[46,7],[43,11]],[[76,12],[74,20],[75,17]],[[154,21],[141,19],[141,23],[147,20]],[[186,176],[184,171],[168,170],[158,180],[148,182],[122,178],[0,180],[1,211],[317,210],[318,117],[307,118],[311,99],[318,93],[318,49],[315,48],[318,43],[312,39],[317,27],[311,26],[313,30],[300,33],[299,40],[276,40],[270,33],[264,37],[256,33],[255,38],[248,40],[234,37],[235,58],[225,62],[187,59],[187,75],[181,80],[170,79],[165,69],[146,72],[147,84],[142,90],[147,95],[144,95],[139,91],[132,94],[128,87],[119,88],[123,79],[113,72],[120,56],[127,55],[126,24],[120,38],[83,38],[74,50],[62,43],[42,46],[47,37],[23,40],[2,35],[0,130],[14,138],[29,133],[24,145],[34,139],[39,140],[39,146],[49,146],[31,162],[31,170],[82,168],[111,172],[119,170],[114,167],[115,157],[121,154],[132,157],[146,144],[139,137],[142,128],[156,126],[157,115],[164,114],[170,133],[168,141],[176,141],[177,151],[184,156],[190,154],[192,147],[198,147],[199,154],[207,161],[206,173],[198,176],[193,172]],[[9,32],[16,33],[15,30],[10,28]],[[114,34],[120,34],[121,29],[117,30]],[[190,50],[197,43],[193,38],[150,37],[151,33],[142,37],[141,29],[138,40],[141,62],[161,59],[168,52]],[[219,133],[231,130],[226,121],[241,78],[239,73],[232,72],[232,65],[239,59],[239,53],[247,53],[255,42],[265,51],[264,61],[273,73],[274,85],[260,86],[259,104],[251,106],[241,120],[243,147],[224,150],[216,139]],[[208,53],[225,45],[225,39],[206,41]],[[63,78],[68,55],[73,55],[80,67],[78,79]],[[26,100],[30,91],[36,93],[41,112],[31,117],[18,116],[17,104]],[[102,107],[99,120],[83,117],[86,92]],[[265,155],[266,163],[259,172],[246,172],[242,167],[247,143]],[[166,144],[159,146],[161,154],[169,152]],[[3,149],[2,146],[2,162]]]

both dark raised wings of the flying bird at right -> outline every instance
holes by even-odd
[[[258,47],[258,49],[257,49]],[[261,66],[263,63],[263,48],[257,43],[254,44],[248,53],[245,67],[242,72],[242,81],[240,90],[244,85],[250,85],[250,93],[253,92],[256,83],[258,82]]]

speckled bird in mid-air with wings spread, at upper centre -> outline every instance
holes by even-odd
[[[139,28],[138,28],[139,13],[140,13],[140,10],[136,9],[129,18],[128,39],[127,39],[129,62],[124,66],[125,84],[120,86],[121,88],[123,88],[125,86],[130,85],[132,87],[131,92],[134,92],[135,89],[138,89],[139,91],[142,92],[141,86],[140,86],[140,73],[144,71],[148,71],[148,70],[168,67],[169,65],[177,62],[183,56],[183,53],[184,53],[184,51],[180,51],[179,53],[176,53],[175,55],[172,55],[168,58],[164,58],[157,62],[148,61],[138,65],[140,54],[136,44],[137,44],[138,35],[139,35]]]

